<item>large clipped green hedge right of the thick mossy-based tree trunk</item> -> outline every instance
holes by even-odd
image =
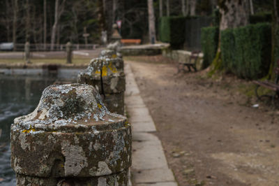
[[[227,71],[240,78],[262,78],[271,62],[271,24],[250,24],[222,31],[220,47]]]

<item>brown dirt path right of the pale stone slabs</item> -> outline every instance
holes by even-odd
[[[176,75],[161,58],[128,63],[179,185],[279,185],[278,111],[252,108],[244,80]]]

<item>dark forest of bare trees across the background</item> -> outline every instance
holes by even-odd
[[[217,0],[153,0],[156,24],[160,2],[163,16],[210,16],[217,5]],[[252,3],[255,13],[272,9],[272,0]],[[84,43],[85,29],[89,43],[100,43],[103,30],[110,40],[116,20],[122,21],[123,38],[148,41],[147,0],[0,0],[0,43]]]

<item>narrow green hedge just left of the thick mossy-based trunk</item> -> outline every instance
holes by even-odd
[[[202,28],[202,52],[204,53],[203,68],[211,64],[218,48],[218,27]]]

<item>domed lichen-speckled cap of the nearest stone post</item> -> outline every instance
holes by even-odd
[[[112,125],[118,128],[125,123],[126,117],[107,110],[93,86],[75,83],[45,88],[33,113],[15,118],[13,127],[36,128],[34,131],[78,131],[79,127],[82,130],[92,127],[112,129]]]

